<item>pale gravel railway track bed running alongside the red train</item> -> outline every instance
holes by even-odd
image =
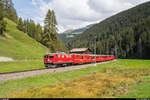
[[[100,62],[100,63],[97,63],[97,65],[105,64],[105,63],[109,63],[109,62],[113,62],[113,61],[116,61],[116,60],[107,61],[107,62]],[[27,70],[27,71],[19,71],[19,72],[1,73],[0,74],[0,81],[21,79],[21,78],[36,76],[36,75],[45,74],[45,73],[56,73],[56,72],[65,72],[65,71],[77,70],[77,69],[81,69],[81,68],[87,68],[89,66],[93,66],[93,64],[74,65],[74,66],[49,68],[49,69],[43,68],[43,69],[35,69],[35,70]]]

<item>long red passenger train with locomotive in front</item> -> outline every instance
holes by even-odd
[[[88,64],[94,62],[102,62],[114,60],[113,55],[90,55],[90,54],[65,54],[65,53],[50,53],[44,55],[44,64],[48,68],[57,66]]]

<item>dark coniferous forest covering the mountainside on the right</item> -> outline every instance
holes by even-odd
[[[96,36],[96,39],[95,39]],[[66,43],[68,48],[88,47],[97,54],[119,58],[150,58],[150,2],[105,19]]]

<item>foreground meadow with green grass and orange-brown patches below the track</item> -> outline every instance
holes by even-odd
[[[0,96],[144,98],[150,97],[149,72],[149,60],[118,60],[97,67],[0,82]]]

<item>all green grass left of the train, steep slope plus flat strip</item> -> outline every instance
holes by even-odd
[[[0,36],[0,57],[13,58],[13,62],[0,62],[0,73],[44,68],[43,56],[48,48],[17,29],[17,25],[7,22],[5,36]]]

